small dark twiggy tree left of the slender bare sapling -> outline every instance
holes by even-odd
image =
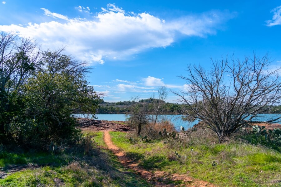
[[[139,97],[132,97],[132,105],[130,107],[129,121],[138,129],[137,134],[141,134],[141,127],[150,122],[150,116],[147,114],[147,106],[145,103],[138,102]]]

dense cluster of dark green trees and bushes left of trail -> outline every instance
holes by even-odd
[[[0,144],[47,149],[76,141],[72,116],[94,114],[99,96],[85,62],[57,51],[37,51],[32,40],[0,33]]]

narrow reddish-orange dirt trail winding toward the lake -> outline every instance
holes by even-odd
[[[173,174],[170,175],[164,171],[155,171],[154,174],[152,174],[150,171],[147,171],[140,166],[138,166],[138,163],[133,162],[130,160],[124,151],[121,151],[117,146],[113,144],[111,141],[111,137],[108,131],[104,132],[104,141],[108,148],[117,156],[119,161],[122,165],[125,167],[130,168],[131,170],[135,170],[141,177],[146,179],[150,184],[154,186],[166,186],[166,187],[172,187],[175,186],[173,184],[166,184],[166,182],[169,181],[183,181],[186,184],[177,185],[177,186],[187,186],[187,187],[203,187],[203,186],[209,186],[209,187],[215,187],[213,184],[210,184],[206,181],[201,180],[194,180],[193,178],[187,176],[187,175],[178,175]],[[162,182],[163,181],[163,182]]]

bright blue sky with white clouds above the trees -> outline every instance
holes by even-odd
[[[280,1],[0,0],[0,31],[43,50],[65,46],[87,61],[89,84],[107,102],[149,98],[163,85],[185,90],[187,65],[208,69],[211,57],[268,53],[281,65]]]

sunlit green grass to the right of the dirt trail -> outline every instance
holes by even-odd
[[[126,133],[110,132],[116,146],[148,170],[163,170],[207,180],[217,186],[280,186],[281,154],[241,142],[173,148],[164,141],[130,144]],[[191,149],[193,151],[191,151]],[[169,161],[177,151],[181,158]],[[186,157],[186,158],[185,158]],[[215,162],[216,166],[212,166]],[[279,182],[278,182],[279,181]]]

